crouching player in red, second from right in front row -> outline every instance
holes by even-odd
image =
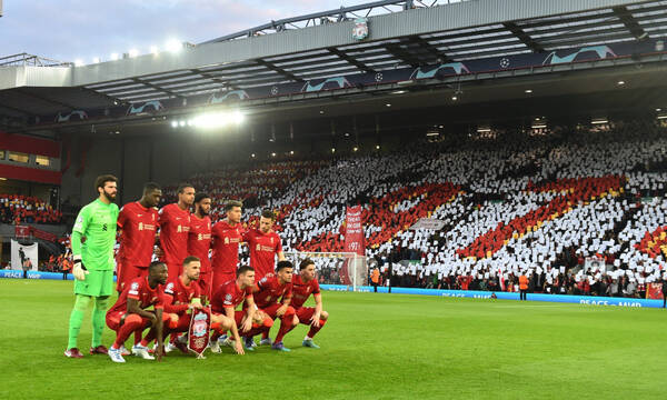
[[[290,307],[292,297],[292,263],[289,261],[278,261],[276,274],[269,273],[259,280],[252,288],[252,296],[256,299],[257,307],[270,319],[280,318],[280,330],[276,336],[276,341],[271,346],[273,350],[290,351],[282,344],[282,337],[289,332],[296,323],[295,309]],[[281,302],[278,302],[281,300]],[[271,344],[268,338],[269,330],[262,332],[260,344]],[[246,337],[246,347],[252,347],[252,337]]]

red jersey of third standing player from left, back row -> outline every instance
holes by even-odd
[[[181,210],[177,203],[162,207],[159,212],[161,261],[181,264],[188,257],[188,232],[190,211]]]

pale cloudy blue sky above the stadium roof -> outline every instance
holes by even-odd
[[[199,43],[271,20],[361,4],[354,0],[3,0],[0,57],[28,52],[60,61],[151,46]]]

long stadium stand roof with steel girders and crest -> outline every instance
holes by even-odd
[[[357,18],[369,33],[355,40]],[[0,67],[0,117],[663,38],[667,1],[376,1],[89,66]]]

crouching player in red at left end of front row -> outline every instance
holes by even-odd
[[[137,278],[123,288],[116,304],[107,312],[107,326],[116,331],[116,341],[109,349],[109,357],[113,362],[125,362],[120,348],[135,331],[142,332],[150,327],[147,339],[157,338],[158,361],[162,359],[162,324],[169,320],[162,312],[162,284],[167,282],[167,264],[153,261],[148,268],[148,277]],[[150,306],[155,311],[147,311]],[[150,341],[149,340],[149,341]],[[135,343],[132,353],[146,360],[155,360],[148,353],[148,348]]]

